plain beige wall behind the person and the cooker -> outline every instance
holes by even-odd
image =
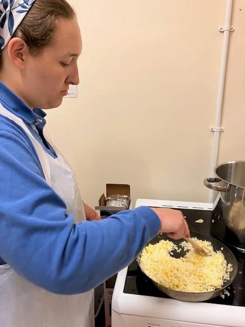
[[[208,201],[225,0],[70,0],[83,53],[77,99],[48,111],[91,206],[106,183],[133,199]],[[244,160],[245,2],[233,1],[218,163]]]

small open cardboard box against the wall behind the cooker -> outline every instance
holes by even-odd
[[[107,198],[111,195],[127,195],[129,197],[129,205],[127,208],[118,206],[107,206]],[[106,184],[106,195],[103,193],[99,198],[99,205],[95,206],[95,210],[100,210],[101,217],[106,218],[110,215],[116,214],[119,211],[126,210],[130,207],[131,196],[130,196],[130,185],[129,184]]]

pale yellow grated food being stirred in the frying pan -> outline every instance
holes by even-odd
[[[209,241],[193,238],[209,252],[203,256],[184,241],[180,244],[189,250],[185,256],[174,258],[173,250],[181,251],[181,247],[169,240],[161,240],[146,246],[140,257],[143,272],[167,288],[182,292],[208,292],[219,289],[230,279],[232,265],[227,264],[222,251],[214,251]]]

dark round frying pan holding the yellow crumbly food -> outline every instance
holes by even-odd
[[[146,274],[144,272],[144,270],[140,266],[140,258],[141,258],[142,251],[137,256],[137,262],[138,262],[138,265],[139,265],[139,268],[141,269],[141,271],[151,279],[153,284],[160,291],[162,291],[166,295],[170,296],[171,298],[175,298],[177,300],[182,300],[182,301],[189,301],[189,302],[207,301],[207,300],[209,300],[209,299],[211,299],[213,297],[218,296],[220,293],[223,293],[223,291],[227,288],[227,286],[230,285],[234,281],[234,279],[235,279],[235,277],[237,275],[237,272],[238,272],[237,260],[236,260],[236,258],[234,256],[234,254],[231,252],[231,250],[227,246],[225,246],[223,243],[219,242],[218,240],[216,240],[216,239],[214,239],[214,238],[212,238],[210,236],[207,236],[207,235],[204,235],[204,234],[201,234],[201,233],[198,233],[198,232],[193,232],[193,231],[191,231],[191,237],[197,237],[197,239],[199,239],[199,240],[211,242],[214,251],[222,249],[221,251],[225,256],[225,259],[226,259],[227,263],[232,264],[233,270],[230,272],[230,279],[229,279],[229,281],[224,282],[224,285],[223,285],[222,288],[215,289],[215,290],[209,291],[209,292],[193,292],[192,293],[192,292],[176,291],[176,290],[167,288],[164,285],[161,285],[161,284],[155,282],[151,277],[148,276],[148,274]],[[169,240],[169,241],[173,242],[174,244],[176,244],[177,246],[181,242],[183,242],[183,239],[180,239],[180,240],[176,241],[176,240],[168,238],[166,234],[161,233],[161,234],[158,234],[150,242],[148,242],[148,244],[146,244],[146,246],[149,245],[149,244],[156,244],[161,240]],[[172,256],[174,256],[174,258],[180,258],[185,253],[186,252],[184,250],[181,251],[181,252],[173,251]]]

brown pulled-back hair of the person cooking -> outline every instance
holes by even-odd
[[[51,44],[58,18],[70,19],[75,16],[74,9],[66,0],[36,0],[12,38],[20,37],[32,55],[38,55],[42,48]],[[0,68],[2,59],[0,54]]]

